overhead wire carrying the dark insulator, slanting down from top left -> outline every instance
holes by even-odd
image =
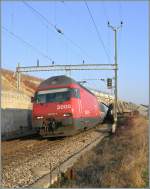
[[[45,21],[45,24],[48,26],[51,26],[55,32],[59,33],[60,35],[62,35],[66,40],[68,40],[73,46],[75,46],[76,48],[78,48],[80,50],[80,52],[82,52],[84,55],[86,55],[89,59],[91,59],[91,57],[88,55],[88,53],[79,45],[77,44],[75,41],[73,41],[68,35],[66,35],[60,28],[58,28],[56,25],[54,25],[51,21],[49,21],[49,19],[47,19],[43,14],[41,14],[37,9],[33,8],[31,5],[29,5],[29,3],[27,3],[26,1],[22,1],[24,3],[25,6],[27,6],[32,12],[34,12],[36,15],[38,15],[40,18],[43,19],[43,21]],[[81,56],[83,57],[83,55],[81,54]],[[85,60],[85,58],[83,58]]]

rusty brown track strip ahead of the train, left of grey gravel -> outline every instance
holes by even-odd
[[[62,138],[63,140],[63,138]],[[34,158],[35,154],[41,154],[45,148],[61,143],[60,139],[47,140],[41,139],[40,136],[34,137],[33,139],[21,138],[13,141],[2,142],[2,162],[3,166],[9,166],[17,162],[17,165],[23,164]],[[27,156],[25,156],[25,153]]]

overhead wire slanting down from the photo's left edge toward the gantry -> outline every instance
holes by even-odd
[[[33,46],[31,43],[29,43],[28,41],[22,39],[22,37],[18,36],[17,34],[11,32],[10,30],[8,30],[6,27],[2,26],[2,29],[4,31],[6,31],[9,35],[13,36],[14,38],[18,39],[20,42],[24,43],[26,46],[32,48],[34,51],[38,52],[39,54],[41,54],[43,57],[49,59],[50,61],[53,61],[52,58],[50,58],[47,54],[45,54],[43,51],[41,51],[40,49],[38,49],[37,47]]]

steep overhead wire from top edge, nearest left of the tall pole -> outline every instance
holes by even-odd
[[[111,60],[110,55],[109,55],[108,51],[106,50],[104,41],[102,40],[101,34],[100,34],[100,32],[99,32],[99,30],[98,30],[98,27],[97,27],[97,25],[96,25],[96,23],[95,23],[95,20],[94,20],[94,18],[93,18],[92,12],[91,12],[91,10],[90,10],[90,8],[89,8],[89,6],[88,6],[86,0],[84,0],[84,2],[85,2],[85,5],[86,5],[87,10],[88,10],[88,12],[89,12],[89,15],[90,15],[90,17],[91,17],[91,20],[92,20],[92,22],[93,22],[93,25],[94,25],[95,31],[96,31],[96,33],[97,33],[98,39],[99,39],[100,43],[102,44],[102,47],[103,47],[103,49],[104,49],[104,52],[105,52],[105,54],[106,54],[106,56],[107,56],[108,61],[110,61],[110,60]]]

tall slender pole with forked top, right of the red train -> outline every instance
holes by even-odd
[[[117,126],[117,101],[118,101],[118,76],[117,76],[117,70],[118,70],[118,62],[117,62],[117,31],[122,27],[123,22],[120,23],[120,26],[114,27],[110,25],[108,22],[108,27],[110,27],[113,32],[114,32],[114,45],[115,45],[115,89],[114,89],[114,94],[115,94],[115,101],[114,101],[114,124],[112,125],[112,132],[114,133],[116,130]]]

